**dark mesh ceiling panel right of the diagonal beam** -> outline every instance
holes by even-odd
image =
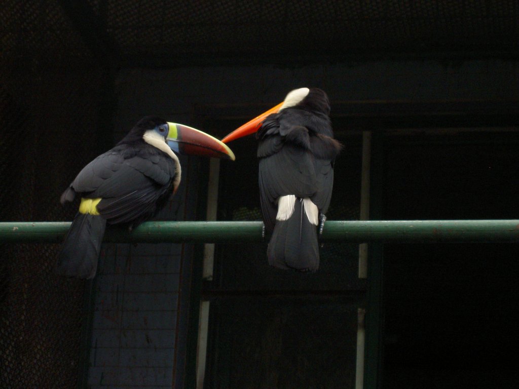
[[[517,49],[512,1],[108,1],[107,25],[134,55],[208,54],[256,59],[309,52]]]

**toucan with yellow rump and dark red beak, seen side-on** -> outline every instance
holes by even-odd
[[[153,217],[180,183],[182,154],[234,160],[216,138],[183,124],[147,116],[114,148],[79,172],[61,195],[61,203],[81,197],[58,257],[58,273],[91,279],[97,269],[108,224],[129,228]]]

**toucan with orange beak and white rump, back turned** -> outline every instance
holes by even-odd
[[[318,88],[299,88],[284,101],[222,139],[256,133],[268,263],[280,269],[319,268],[322,232],[342,144],[333,137],[330,102]]]

